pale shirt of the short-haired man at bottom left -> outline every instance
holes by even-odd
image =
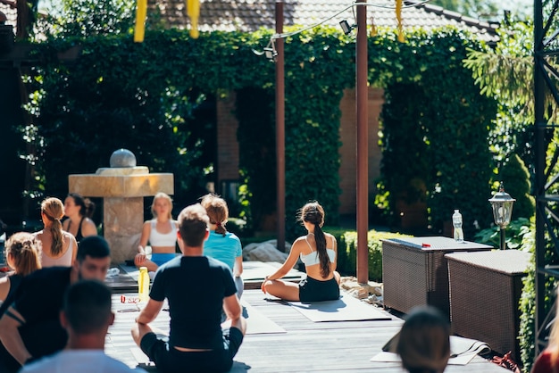
[[[129,373],[143,372],[131,369],[122,361],[104,354],[102,350],[63,350],[23,366],[20,373]]]

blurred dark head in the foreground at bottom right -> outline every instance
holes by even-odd
[[[442,373],[450,358],[450,324],[436,308],[413,309],[397,336],[396,353],[410,373]]]

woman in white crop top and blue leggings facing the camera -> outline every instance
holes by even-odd
[[[142,235],[138,245],[138,253],[134,257],[136,267],[146,267],[154,272],[167,261],[177,256],[177,221],[172,219],[172,200],[169,195],[159,192],[154,195],[152,213],[154,219],[146,220],[142,227]],[[146,257],[146,245],[152,249],[151,260]]]

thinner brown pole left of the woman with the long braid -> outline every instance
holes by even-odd
[[[276,33],[283,33],[283,1],[276,0]],[[283,38],[276,39],[276,164],[278,168],[278,250],[285,252],[286,207],[285,207],[285,74]]]

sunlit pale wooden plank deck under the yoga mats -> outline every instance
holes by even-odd
[[[293,306],[266,300],[266,295],[259,289],[245,290],[243,302],[274,321],[285,332],[246,335],[231,372],[403,372],[399,363],[370,361],[403,323],[402,319],[386,311],[382,311],[388,317],[385,320],[313,322]],[[138,353],[132,341],[130,327],[139,311],[136,304],[121,303],[118,291],[113,295],[113,309],[116,318],[109,329],[105,352],[132,368],[136,367],[142,360],[142,354]],[[153,326],[167,332],[168,311],[163,308]],[[480,356],[467,365],[449,365],[446,369],[448,373],[472,371],[505,373],[508,370]]]

